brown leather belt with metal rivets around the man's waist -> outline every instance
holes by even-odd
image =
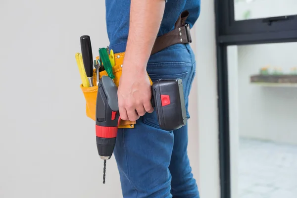
[[[165,49],[174,44],[192,43],[190,26],[186,24],[189,11],[183,11],[174,25],[174,30],[156,38],[151,54]]]

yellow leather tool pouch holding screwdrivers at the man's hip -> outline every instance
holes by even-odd
[[[117,87],[119,86],[120,77],[122,75],[122,65],[123,65],[124,55],[125,55],[125,52],[114,54],[115,65],[112,67],[112,72],[113,72],[113,75],[115,76],[113,79],[113,82],[115,83],[115,85]],[[100,75],[99,79],[101,79],[102,76],[108,76],[107,72],[105,70],[101,71],[99,73],[99,75]],[[96,82],[97,74],[96,74],[95,70],[94,70],[93,78],[94,78],[94,85],[97,85],[97,82]],[[150,85],[152,85],[152,81],[150,78],[149,78],[149,81],[150,81]],[[85,99],[86,99],[87,116],[95,121],[96,120],[96,100],[97,100],[98,86],[83,87],[83,85],[81,84],[81,89],[82,89]],[[134,124],[136,124],[135,121],[132,122],[129,120],[120,120],[120,124],[119,124],[118,128],[134,128]]]

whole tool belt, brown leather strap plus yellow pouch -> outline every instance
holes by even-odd
[[[190,26],[188,24],[185,24],[188,15],[188,11],[182,12],[182,14],[175,23],[174,30],[156,38],[153,48],[151,50],[151,54],[157,53],[158,51],[161,51],[162,49],[165,49],[175,44],[188,44],[192,42]],[[117,87],[119,86],[119,80],[122,74],[124,55],[125,52],[121,52],[115,53],[114,57],[112,57],[115,60],[115,65],[112,67],[112,73],[115,76],[113,81]],[[96,85],[97,74],[95,70],[93,76],[94,85]],[[99,72],[99,79],[101,79],[102,76],[108,76],[105,70]],[[152,81],[150,78],[149,80],[150,85],[152,85]],[[81,84],[81,90],[84,93],[86,99],[86,114],[89,118],[96,120],[96,99],[98,86],[83,87],[83,85]],[[135,121],[120,120],[118,128],[134,128],[134,124],[136,124]]]

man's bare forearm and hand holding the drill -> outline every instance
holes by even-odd
[[[147,64],[164,9],[165,0],[131,0],[129,35],[118,88],[123,120],[135,121],[153,111]]]

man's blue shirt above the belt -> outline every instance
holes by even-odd
[[[109,49],[113,49],[114,53],[126,50],[129,32],[130,1],[105,0]],[[167,0],[157,36],[173,30],[179,15],[185,10],[189,11],[186,23],[192,28],[200,14],[200,0]],[[141,37],[141,35],[139,36]]]

